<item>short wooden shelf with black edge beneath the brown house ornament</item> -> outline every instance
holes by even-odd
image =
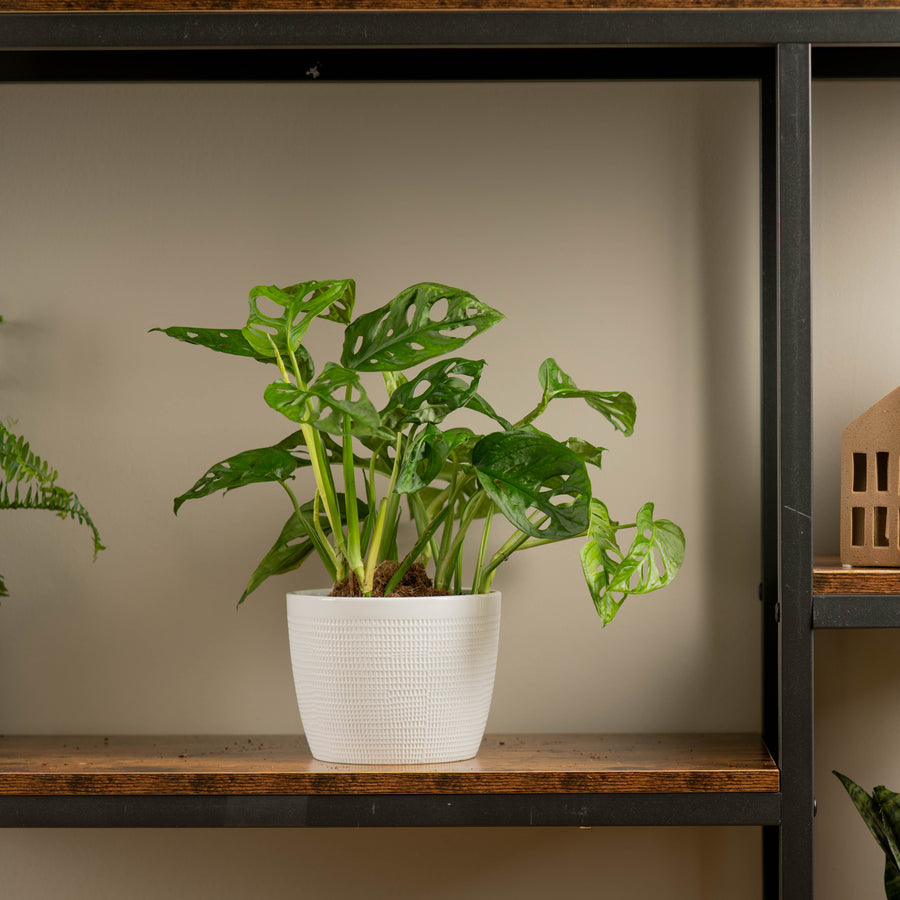
[[[900,628],[900,569],[845,568],[837,557],[817,559],[813,628]]]

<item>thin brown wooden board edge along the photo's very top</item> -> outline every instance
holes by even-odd
[[[0,0],[4,12],[897,9],[900,0]]]

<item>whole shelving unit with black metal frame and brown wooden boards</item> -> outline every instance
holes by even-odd
[[[813,628],[900,627],[900,596],[813,570],[810,88],[900,76],[900,9],[684,5],[13,0],[0,79],[302,80],[314,61],[335,80],[757,81],[762,737],[506,736],[469,763],[378,771],[316,763],[296,738],[6,737],[0,824],[759,825],[765,896],[813,897]]]

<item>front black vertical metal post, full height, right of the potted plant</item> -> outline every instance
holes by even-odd
[[[783,900],[813,898],[809,44],[778,47],[778,763]]]

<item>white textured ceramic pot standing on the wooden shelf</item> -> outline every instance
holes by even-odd
[[[500,594],[287,595],[297,705],[316,759],[470,759],[484,735]]]

